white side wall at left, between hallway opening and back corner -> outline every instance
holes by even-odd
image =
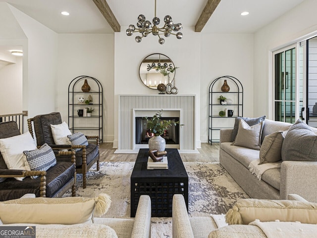
[[[9,7],[28,39],[23,46],[23,110],[29,117],[55,111],[57,34]]]

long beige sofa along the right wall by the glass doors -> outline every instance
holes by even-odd
[[[262,138],[292,124],[265,119]],[[316,131],[316,128],[312,128]],[[286,199],[296,193],[317,202],[317,162],[283,161],[281,168],[264,172],[261,180],[249,171],[249,164],[259,159],[259,150],[231,145],[232,129],[220,130],[219,161],[231,177],[252,198]]]

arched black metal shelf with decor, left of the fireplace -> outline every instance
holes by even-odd
[[[96,78],[78,76],[69,83],[68,125],[72,133],[85,131],[103,142],[103,86]]]

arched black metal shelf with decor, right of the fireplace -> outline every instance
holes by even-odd
[[[221,76],[209,86],[208,142],[219,142],[220,129],[233,128],[243,117],[243,86],[233,76]]]

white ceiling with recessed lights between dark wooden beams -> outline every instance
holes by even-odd
[[[154,0],[106,0],[126,30],[137,16],[154,17]],[[171,15],[183,26],[195,26],[208,0],[157,0],[157,16]],[[254,33],[304,0],[221,0],[202,33]],[[56,33],[113,33],[93,0],[0,0],[8,2]],[[70,12],[63,16],[61,11]],[[241,16],[242,11],[249,11]]]

